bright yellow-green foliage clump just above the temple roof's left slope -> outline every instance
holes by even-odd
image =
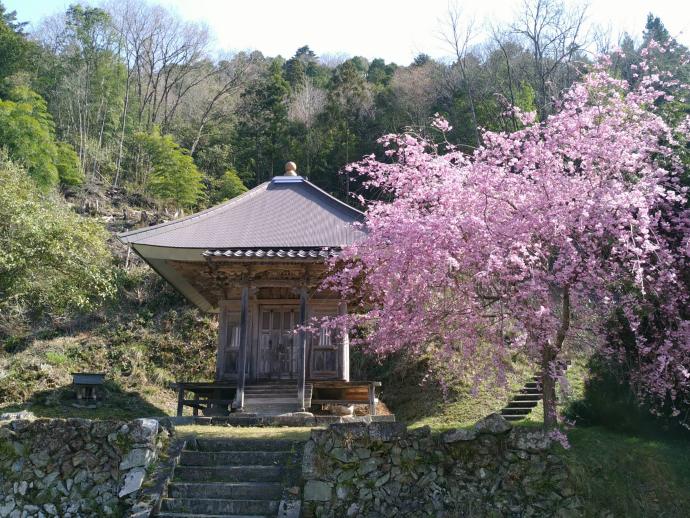
[[[203,175],[189,152],[157,127],[151,133],[136,133],[134,141],[139,178],[146,189],[165,203],[195,205],[203,191]]]

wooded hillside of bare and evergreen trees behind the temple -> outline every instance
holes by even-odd
[[[124,187],[191,210],[294,160],[345,197],[352,187],[338,172],[377,152],[381,135],[428,133],[438,112],[471,150],[478,127],[519,126],[510,105],[545,117],[592,51],[618,45],[583,26],[584,8],[532,4],[541,7],[490,36],[451,10],[439,30],[452,57],[409,64],[319,57],[307,45],[293,56],[229,54],[204,25],[143,0],[75,3],[30,32],[3,9],[0,138],[44,188]],[[620,42],[620,74],[651,38],[669,38],[653,16],[641,38]]]

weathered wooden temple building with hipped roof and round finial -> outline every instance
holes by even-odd
[[[350,380],[346,333],[296,331],[346,304],[319,290],[326,261],[363,236],[363,214],[296,174],[225,203],[118,236],[189,301],[218,314],[215,380],[178,383],[178,414],[263,415],[366,403],[374,382]],[[186,399],[186,392],[193,399]]]

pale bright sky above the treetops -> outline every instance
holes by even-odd
[[[18,19],[38,23],[77,0],[0,0]],[[85,2],[86,3],[86,2]],[[88,2],[97,4],[98,2]],[[289,58],[302,45],[317,55],[360,55],[409,64],[420,52],[450,54],[440,20],[448,0],[161,0],[183,18],[205,22],[218,50],[260,50]],[[522,0],[460,0],[481,30],[508,21]],[[589,24],[639,37],[647,13],[659,16],[671,35],[690,46],[688,0],[590,0]],[[614,38],[615,39],[615,38]],[[481,35],[476,42],[481,41]]]

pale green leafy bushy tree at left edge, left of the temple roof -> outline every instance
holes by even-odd
[[[42,195],[0,154],[0,334],[17,322],[64,317],[114,293],[103,226]]]

